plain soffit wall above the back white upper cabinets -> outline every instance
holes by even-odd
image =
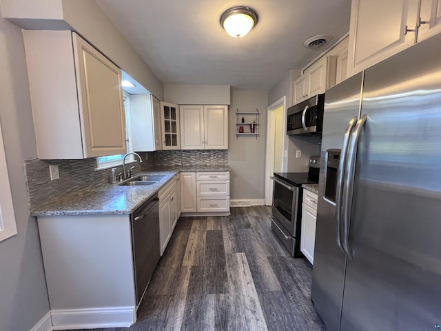
[[[229,85],[165,85],[164,101],[178,105],[229,105]]]

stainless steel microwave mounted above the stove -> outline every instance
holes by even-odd
[[[325,93],[317,94],[288,108],[287,134],[321,134]]]

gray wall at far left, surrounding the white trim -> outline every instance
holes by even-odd
[[[23,160],[37,155],[23,39],[20,28],[1,18],[0,72],[0,122],[18,230],[0,242],[0,330],[23,331],[49,311],[49,302],[23,169]]]

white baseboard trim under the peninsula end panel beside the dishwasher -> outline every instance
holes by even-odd
[[[52,330],[124,328],[136,322],[135,307],[51,310]]]

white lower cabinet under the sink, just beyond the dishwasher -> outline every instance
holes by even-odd
[[[179,175],[178,175],[179,177]],[[172,179],[158,194],[159,197],[159,233],[161,242],[161,256],[167,247],[176,222],[178,221],[178,199],[176,179]]]

